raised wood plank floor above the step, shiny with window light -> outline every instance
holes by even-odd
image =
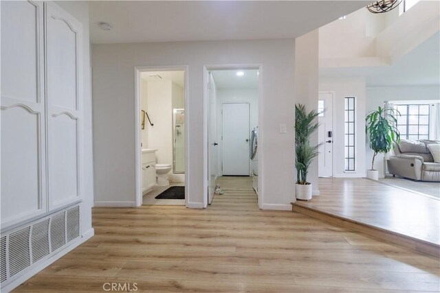
[[[319,187],[320,196],[296,204],[440,245],[437,198],[365,178],[320,178]]]

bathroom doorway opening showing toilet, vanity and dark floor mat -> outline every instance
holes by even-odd
[[[186,67],[135,68],[135,198],[186,205]]]

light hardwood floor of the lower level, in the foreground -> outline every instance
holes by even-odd
[[[96,236],[17,292],[439,292],[439,259],[291,211],[260,211],[250,178],[208,209],[96,208]]]

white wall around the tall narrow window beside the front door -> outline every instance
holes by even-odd
[[[365,165],[365,81],[363,78],[320,78],[320,91],[333,95],[333,177],[364,177]],[[355,171],[344,172],[345,97],[355,97]],[[367,104],[370,104],[368,102]]]

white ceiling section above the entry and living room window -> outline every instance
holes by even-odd
[[[361,77],[369,87],[438,85],[439,64],[440,34],[437,33],[391,66],[320,69],[320,77]]]

